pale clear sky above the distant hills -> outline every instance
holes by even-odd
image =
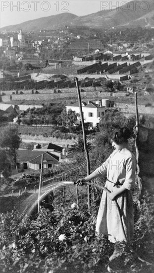
[[[113,9],[130,0],[0,0],[0,28],[70,12],[83,16]]]

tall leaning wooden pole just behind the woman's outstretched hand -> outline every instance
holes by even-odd
[[[89,160],[89,153],[88,153],[88,149],[87,149],[85,124],[84,124],[84,118],[83,118],[83,112],[82,112],[81,95],[80,95],[80,89],[79,89],[79,83],[78,83],[78,78],[77,77],[76,77],[75,81],[76,81],[78,100],[79,100],[79,107],[80,107],[80,116],[81,116],[81,123],[82,123],[84,150],[85,150],[85,153],[86,153],[87,175],[90,175],[90,160]],[[90,207],[91,207],[91,186],[88,185],[88,210],[89,211],[90,211]]]

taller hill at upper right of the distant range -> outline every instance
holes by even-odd
[[[138,1],[133,5],[133,2],[129,2],[129,6],[124,4],[122,7],[114,8],[110,10],[103,10],[97,13],[93,13],[87,16],[78,17],[73,21],[73,24],[76,25],[86,25],[89,27],[96,27],[96,28],[111,28],[116,26],[131,26],[134,25],[135,27],[141,26],[140,18],[143,21],[142,26],[146,27],[148,24],[149,26],[154,25],[154,1],[149,0],[149,8],[147,11],[146,6],[144,6],[143,0]],[[142,6],[142,8],[141,8]],[[129,7],[129,8],[128,8]],[[128,10],[127,10],[128,9]],[[124,11],[126,10],[126,11]]]

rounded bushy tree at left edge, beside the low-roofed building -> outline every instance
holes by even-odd
[[[16,128],[6,129],[0,132],[0,147],[5,148],[8,154],[8,159],[10,163],[13,163],[17,168],[16,162],[16,150],[20,145],[20,137]]]

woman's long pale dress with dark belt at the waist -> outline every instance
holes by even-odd
[[[96,234],[110,234],[108,239],[113,243],[124,240],[130,244],[133,240],[134,218],[131,188],[135,183],[135,171],[136,158],[128,149],[113,151],[102,166],[95,170],[98,177],[102,177],[107,172],[105,187],[109,191],[113,192],[121,187],[120,185],[114,186],[117,181],[120,181],[127,189],[116,198],[127,240],[119,219],[117,206],[103,191],[97,217]]]

